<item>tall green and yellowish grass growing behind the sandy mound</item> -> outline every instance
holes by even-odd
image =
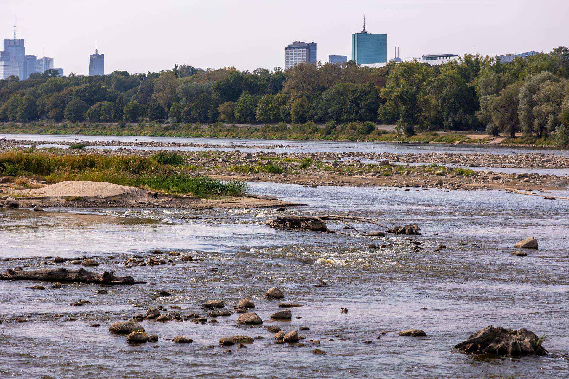
[[[0,172],[38,175],[52,183],[65,180],[109,182],[196,196],[242,196],[247,191],[243,182],[222,182],[206,176],[192,177],[172,166],[138,156],[7,152],[0,154]]]

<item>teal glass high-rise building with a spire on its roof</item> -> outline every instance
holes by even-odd
[[[387,62],[387,35],[371,34],[365,30],[352,34],[352,59],[357,64]]]

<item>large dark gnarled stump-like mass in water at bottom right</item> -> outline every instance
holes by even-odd
[[[490,325],[471,335],[468,340],[455,346],[465,353],[492,355],[539,355],[548,354],[534,332],[527,329],[512,330]]]

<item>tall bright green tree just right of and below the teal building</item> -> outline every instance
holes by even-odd
[[[381,90],[381,97],[385,99],[383,106],[397,111],[399,130],[407,135],[415,134],[415,128],[424,126],[430,78],[431,69],[418,61],[402,62],[391,71]]]

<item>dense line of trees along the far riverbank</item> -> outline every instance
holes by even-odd
[[[286,71],[176,65],[159,73],[0,80],[0,120],[143,123],[396,123],[413,135],[481,130],[569,140],[569,50],[517,57],[464,55],[446,64],[381,68],[300,64]]]

